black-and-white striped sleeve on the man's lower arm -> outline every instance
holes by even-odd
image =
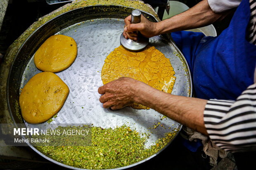
[[[256,150],[256,84],[249,86],[236,101],[209,100],[204,123],[218,147],[231,152]]]

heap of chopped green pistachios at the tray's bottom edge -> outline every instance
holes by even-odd
[[[116,128],[92,127],[91,146],[36,147],[46,156],[77,168],[112,169],[127,166],[155,154],[176,134],[166,133],[164,138],[145,148],[149,134],[139,135],[123,125]]]

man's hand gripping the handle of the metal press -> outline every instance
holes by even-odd
[[[137,33],[136,31],[140,31],[140,33],[144,37],[153,37],[157,35],[156,24],[154,22],[149,21],[145,18],[145,16],[141,15],[140,23],[131,23],[131,16],[127,16],[124,19],[125,27],[123,31],[123,36],[126,39],[137,40]]]

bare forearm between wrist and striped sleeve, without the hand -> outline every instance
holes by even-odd
[[[171,95],[140,84],[134,91],[134,102],[150,107],[189,128],[207,135],[204,108],[207,100]]]

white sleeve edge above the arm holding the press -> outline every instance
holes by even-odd
[[[208,4],[213,12],[225,12],[238,7],[242,0],[208,0]]]

